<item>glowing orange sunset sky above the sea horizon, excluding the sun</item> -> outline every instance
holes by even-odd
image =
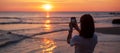
[[[0,0],[0,11],[44,11],[44,4],[53,5],[51,11],[120,11],[120,0]]]

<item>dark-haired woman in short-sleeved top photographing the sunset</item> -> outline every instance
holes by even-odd
[[[90,14],[83,15],[80,19],[80,29],[76,23],[69,23],[67,43],[75,46],[75,53],[93,53],[97,44],[93,17]],[[72,37],[73,28],[79,32],[79,35]]]

